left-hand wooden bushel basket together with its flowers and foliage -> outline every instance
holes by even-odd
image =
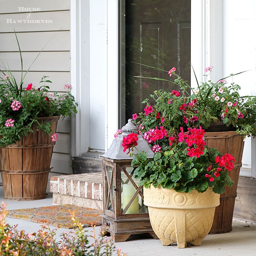
[[[18,38],[15,33],[16,40]],[[47,76],[39,85],[24,85],[23,59],[21,81],[2,61],[0,69],[0,171],[4,197],[14,200],[35,200],[46,197],[53,146],[58,139],[59,117],[77,113],[71,85],[66,93],[50,93]],[[39,53],[40,54],[40,53]],[[38,54],[38,55],[39,55]],[[38,57],[38,56],[37,56]]]

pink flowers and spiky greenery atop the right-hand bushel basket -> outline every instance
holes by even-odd
[[[155,126],[164,126],[172,132],[178,132],[180,127],[201,126],[207,129],[213,122],[222,122],[239,134],[256,136],[256,97],[241,96],[240,86],[234,82],[231,84],[227,82],[228,78],[243,72],[213,83],[207,80],[212,69],[212,66],[205,69],[205,82],[201,85],[197,83],[195,88],[175,73],[175,67],[168,72],[170,77],[175,78],[174,81],[141,77],[172,82],[180,90],[154,91],[154,94],[150,95],[151,100],[145,99],[142,102],[146,104],[144,112],[134,114],[133,119],[139,118],[140,122],[137,123],[146,130]],[[154,103],[154,106],[150,102]]]

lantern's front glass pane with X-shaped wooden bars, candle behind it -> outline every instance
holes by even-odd
[[[140,180],[133,177],[135,169],[131,166],[121,168],[121,208],[123,214],[148,212],[147,207],[143,204],[143,187],[139,188]],[[135,193],[136,195],[134,196]],[[130,206],[126,209],[128,204]]]

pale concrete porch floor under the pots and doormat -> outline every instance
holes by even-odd
[[[7,204],[7,210],[43,207],[52,205],[52,194],[48,192],[47,198],[34,201],[8,201],[3,198],[3,187],[0,187],[0,200]],[[37,232],[41,224],[21,219],[6,218],[11,226],[18,224],[18,230]],[[54,229],[54,227],[51,227]],[[87,228],[90,236],[91,228]],[[58,229],[59,236],[67,229]],[[99,233],[99,227],[96,228]],[[91,241],[93,242],[93,241]],[[126,242],[116,243],[116,248],[128,256],[256,256],[256,224],[233,220],[233,230],[230,233],[207,235],[200,246],[191,246],[178,249],[176,245],[163,246],[160,240],[148,235],[134,235]]]

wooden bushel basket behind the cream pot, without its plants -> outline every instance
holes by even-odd
[[[234,169],[229,172],[234,181],[232,187],[226,186],[225,193],[220,196],[220,205],[215,209],[212,229],[210,233],[226,233],[232,230],[232,219],[236,199],[236,189],[240,167],[242,166],[242,153],[244,149],[244,136],[235,131],[206,132],[205,142],[211,148],[217,148],[222,154],[228,153],[235,157]]]

